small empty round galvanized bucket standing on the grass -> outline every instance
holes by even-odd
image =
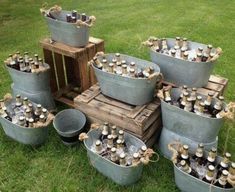
[[[53,121],[55,130],[65,145],[78,143],[78,136],[86,124],[86,116],[79,110],[66,109],[59,112]]]

